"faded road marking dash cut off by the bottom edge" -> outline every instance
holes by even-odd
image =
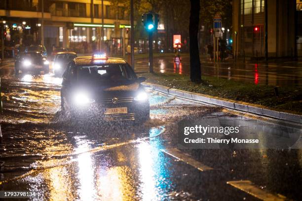
[[[228,181],[227,184],[235,187],[245,193],[248,193],[263,201],[285,201],[286,197],[280,194],[273,195],[266,190],[258,188],[253,182],[249,180]]]

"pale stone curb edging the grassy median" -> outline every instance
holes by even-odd
[[[262,105],[252,104],[252,103],[248,103],[248,102],[235,101],[235,100],[229,100],[229,99],[222,99],[219,97],[213,97],[213,96],[209,96],[209,95],[188,92],[188,91],[184,91],[184,90],[180,90],[180,89],[169,88],[166,86],[152,84],[149,82],[143,82],[142,85],[144,87],[151,88],[154,91],[158,91],[158,92],[161,92],[164,94],[169,94],[169,95],[180,97],[180,98],[185,98],[185,99],[194,100],[194,101],[200,101],[200,102],[204,102],[204,103],[208,103],[208,104],[222,106],[222,107],[225,107],[228,109],[249,112],[249,113],[253,113],[253,114],[257,114],[257,115],[261,115],[261,116],[272,117],[275,119],[282,119],[282,120],[286,120],[286,121],[302,123],[302,115],[291,114],[291,113],[287,113],[287,112],[280,112],[280,111],[272,110],[271,108],[265,107]]]

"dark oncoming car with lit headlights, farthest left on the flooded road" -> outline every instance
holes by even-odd
[[[29,71],[44,71],[49,72],[49,62],[40,52],[24,52],[16,57],[15,73],[19,71],[23,73]]]

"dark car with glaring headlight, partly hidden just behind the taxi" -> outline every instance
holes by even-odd
[[[58,52],[53,60],[53,73],[62,76],[69,62],[76,58],[75,52]]]

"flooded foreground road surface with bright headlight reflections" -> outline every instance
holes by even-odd
[[[11,63],[0,66],[0,76],[0,190],[32,191],[36,197],[30,200],[51,201],[259,200],[258,194],[227,184],[248,180],[280,199],[302,198],[302,140],[295,135],[301,125],[246,119],[149,91],[151,120],[144,125],[82,128],[59,112],[61,78],[51,73],[15,77]],[[298,145],[178,149],[180,122],[209,120],[240,124],[245,135],[264,138],[284,128],[295,130],[288,138],[298,137]]]

